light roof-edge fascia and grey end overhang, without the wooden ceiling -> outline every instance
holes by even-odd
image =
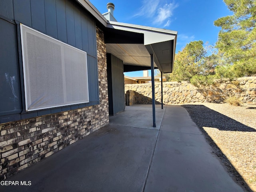
[[[98,22],[100,22],[106,28],[143,34],[144,46],[148,50],[149,54],[154,54],[154,61],[159,70],[164,73],[172,72],[178,33],[177,31],[108,21],[89,0],[76,1],[79,2],[86,10],[88,10],[88,12],[90,12],[96,18],[96,20],[98,20]],[[169,43],[171,45],[169,47],[170,50],[172,50],[172,53],[170,53],[169,56],[170,60],[168,61],[168,63],[160,62],[162,56],[156,48],[159,48],[159,46],[164,44],[166,45],[166,43]],[[168,67],[166,67],[167,65]]]

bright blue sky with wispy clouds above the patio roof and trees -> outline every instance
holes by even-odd
[[[222,0],[90,0],[101,12],[106,4],[115,5],[114,17],[118,22],[164,28],[178,31],[176,53],[187,43],[202,40],[214,45],[220,28],[214,20],[232,15]],[[142,76],[142,72],[125,73]]]

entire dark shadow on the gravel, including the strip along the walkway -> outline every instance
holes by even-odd
[[[236,180],[240,185],[242,185],[248,192],[253,192],[248,184],[244,181],[242,176],[238,173],[236,168],[231,164],[228,158],[222,153],[217,144],[212,140],[212,138],[207,134],[203,127],[214,127],[219,130],[226,131],[243,131],[243,132],[256,132],[255,129],[246,126],[232,118],[229,118],[219,112],[216,112],[204,105],[182,105],[189,113],[192,120],[196,123],[198,128],[204,134],[206,140],[212,146],[214,153],[220,158],[223,166],[227,169],[233,180]],[[200,116],[198,116],[200,114]],[[220,126],[220,124],[226,124],[225,126]],[[239,130],[238,130],[239,129]]]

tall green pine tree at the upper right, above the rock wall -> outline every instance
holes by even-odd
[[[220,77],[241,77],[256,74],[256,1],[224,0],[234,12],[214,22],[221,27],[216,48],[225,57],[226,65],[216,68]]]

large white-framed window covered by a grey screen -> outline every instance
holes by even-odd
[[[87,54],[20,24],[26,110],[89,102]]]

